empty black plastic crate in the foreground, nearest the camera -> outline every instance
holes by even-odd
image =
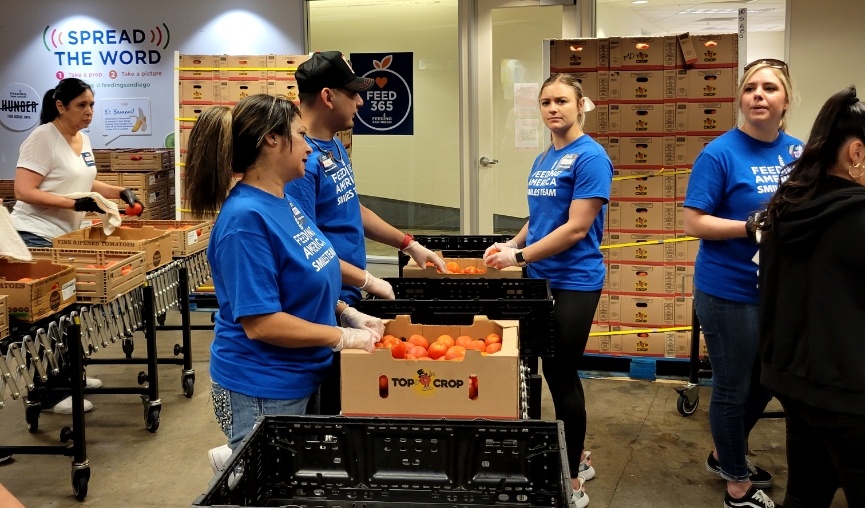
[[[192,506],[566,507],[560,422],[265,416]]]

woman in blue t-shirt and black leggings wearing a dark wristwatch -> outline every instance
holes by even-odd
[[[529,221],[507,243],[484,253],[495,268],[527,266],[548,279],[555,300],[555,356],[544,358],[556,419],[565,427],[577,507],[588,505],[582,488],[595,476],[586,439],[586,400],[578,370],[604,285],[604,205],[610,200],[613,165],[603,147],[583,133],[594,108],[571,74],[554,74],[541,85],[540,109],[552,144],[532,165]]]

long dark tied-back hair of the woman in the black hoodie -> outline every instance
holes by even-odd
[[[820,108],[802,156],[785,168],[782,183],[769,200],[764,229],[771,228],[791,206],[814,196],[817,185],[838,162],[838,152],[850,138],[865,143],[865,103],[856,96],[853,86],[836,93]]]

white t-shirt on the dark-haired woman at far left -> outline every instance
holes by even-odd
[[[90,138],[83,132],[80,134],[84,143],[81,155],[76,155],[53,123],[36,127],[21,143],[17,167],[44,177],[39,190],[58,195],[90,192],[96,180],[96,160]],[[16,230],[49,239],[80,228],[83,218],[82,212],[34,206],[20,200],[12,209],[12,225]]]

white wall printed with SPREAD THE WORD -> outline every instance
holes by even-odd
[[[157,29],[163,36],[161,44],[157,44]],[[115,44],[107,44],[105,34],[102,44],[76,43],[81,32],[97,30],[117,30]],[[144,40],[120,42],[123,30],[128,34],[139,30]],[[175,51],[297,54],[304,52],[304,40],[302,0],[28,0],[26,8],[21,4],[3,9],[0,17],[0,90],[22,83],[35,90],[41,102],[42,94],[57,84],[61,74],[81,77],[96,92],[88,132],[94,148],[160,147],[174,132]],[[103,65],[100,55],[115,51],[144,51],[147,59],[139,64]],[[84,52],[90,54],[90,65],[82,65]],[[70,54],[78,61],[73,62]],[[111,71],[117,77],[112,78]],[[152,74],[142,76],[142,72]],[[105,138],[99,101],[107,98],[150,99],[148,135]],[[0,179],[14,177],[18,147],[29,132],[0,125]]]

